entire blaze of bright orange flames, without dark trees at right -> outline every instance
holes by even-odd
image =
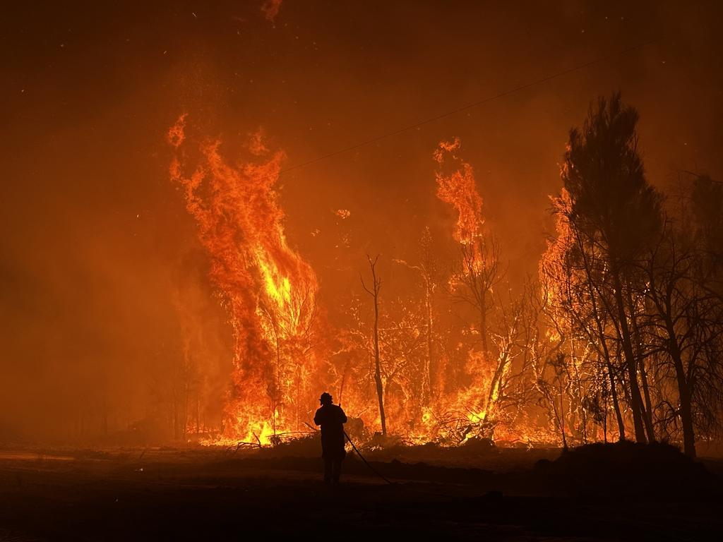
[[[286,238],[278,189],[284,153],[270,149],[259,131],[230,160],[220,139],[203,139],[187,120],[179,117],[168,131],[175,150],[171,180],[197,224],[234,334],[223,425],[207,444],[265,446],[309,434],[320,390],[338,390],[356,418],[350,431],[372,441],[567,446],[568,439],[622,438],[631,417],[638,440],[646,438],[641,420],[653,439],[645,365],[638,374],[634,364],[625,365],[632,348],[641,347],[630,343],[625,356],[619,347],[615,357],[610,352],[613,332],[630,334],[619,324],[628,325],[624,310],[609,308],[610,296],[641,313],[646,306],[619,296],[619,285],[603,290],[610,288],[612,260],[597,253],[594,238],[583,237],[588,225],[573,227],[567,189],[552,198],[557,231],[539,277],[513,295],[499,243],[484,220],[474,168],[462,158],[460,139],[440,142],[429,160],[430,181],[432,173],[436,181],[429,191],[454,218],[447,231],[452,264],[440,264],[425,228],[416,261],[388,262],[413,273],[418,284],[414,296],[394,298],[385,297],[379,257],[367,255],[361,296],[352,293],[345,322],[331,322],[320,306],[315,270]],[[566,160],[573,163],[571,148]],[[563,166],[563,178],[575,174]],[[351,218],[344,208],[331,212],[338,220]],[[646,288],[642,295],[650,293]],[[589,319],[581,320],[586,311]],[[638,394],[637,415],[621,408],[617,390],[628,393],[626,377],[636,383],[625,401]],[[615,422],[608,423],[613,413]]]

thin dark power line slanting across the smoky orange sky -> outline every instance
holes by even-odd
[[[643,43],[638,43],[635,46],[625,48],[621,51],[615,51],[613,53],[609,53],[605,56],[601,56],[595,60],[591,60],[584,64],[578,64],[577,66],[573,66],[568,69],[563,69],[561,72],[557,72],[552,75],[547,75],[545,77],[541,77],[540,79],[536,79],[532,82],[525,83],[524,85],[520,85],[518,87],[514,87],[509,90],[505,90],[502,93],[495,94],[493,96],[488,96],[487,98],[483,98],[482,100],[477,100],[476,102],[468,103],[466,106],[462,106],[462,107],[453,109],[452,111],[447,111],[446,113],[442,113],[437,116],[429,117],[429,119],[425,119],[424,121],[419,121],[416,124],[410,124],[409,126],[404,126],[403,128],[393,130],[392,132],[387,132],[386,134],[381,134],[381,135],[378,135],[377,137],[372,137],[372,139],[367,139],[366,141],[356,143],[355,145],[351,145],[350,147],[344,147],[343,149],[335,150],[333,152],[329,152],[328,154],[317,156],[317,158],[312,158],[312,160],[307,160],[306,162],[292,165],[289,168],[281,170],[278,174],[283,175],[283,173],[288,173],[289,171],[294,171],[297,169],[305,168],[305,167],[307,167],[307,165],[312,165],[317,162],[320,162],[321,160],[326,160],[327,158],[332,158],[334,156],[341,155],[344,152],[349,152],[351,150],[359,149],[360,147],[372,145],[372,143],[379,142],[382,139],[387,139],[388,137],[392,137],[392,136],[395,136],[398,134],[402,134],[403,132],[408,132],[409,130],[419,128],[419,126],[424,126],[425,124],[430,124],[430,123],[438,121],[440,119],[445,119],[446,117],[455,115],[456,113],[461,113],[462,111],[467,111],[468,109],[482,106],[485,103],[489,103],[489,102],[491,102],[493,100],[497,100],[499,98],[504,98],[505,96],[509,96],[510,94],[518,93],[521,90],[525,90],[530,87],[534,87],[535,85],[542,85],[542,83],[544,83],[544,82],[552,81],[552,79],[557,79],[558,77],[563,77],[563,76],[571,74],[573,72],[577,72],[581,69],[589,68],[590,66],[594,66],[595,64],[600,64],[601,62],[615,58],[616,56],[621,56],[621,55],[624,55],[627,53],[631,53],[638,49],[650,46],[653,43],[656,43],[658,41],[659,41],[659,38],[656,38],[654,40],[649,40],[649,41],[645,41]]]

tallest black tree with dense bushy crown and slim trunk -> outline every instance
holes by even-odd
[[[633,348],[625,275],[661,227],[660,196],[638,153],[638,112],[615,93],[593,104],[582,129],[570,130],[562,181],[572,202],[570,225],[598,244],[607,260],[613,315],[625,356],[630,410],[638,442],[646,442],[639,359]]]

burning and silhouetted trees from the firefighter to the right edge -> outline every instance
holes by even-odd
[[[683,199],[662,194],[637,124],[617,93],[570,131],[557,230],[521,291],[460,142],[440,144],[437,195],[455,207],[455,242],[435,250],[427,229],[417,261],[377,267],[383,277],[403,264],[416,295],[387,288],[374,307],[352,304],[330,364],[352,413],[376,410],[378,395],[387,431],[408,442],[635,439],[694,457],[696,440],[719,435],[723,185],[688,174]]]

